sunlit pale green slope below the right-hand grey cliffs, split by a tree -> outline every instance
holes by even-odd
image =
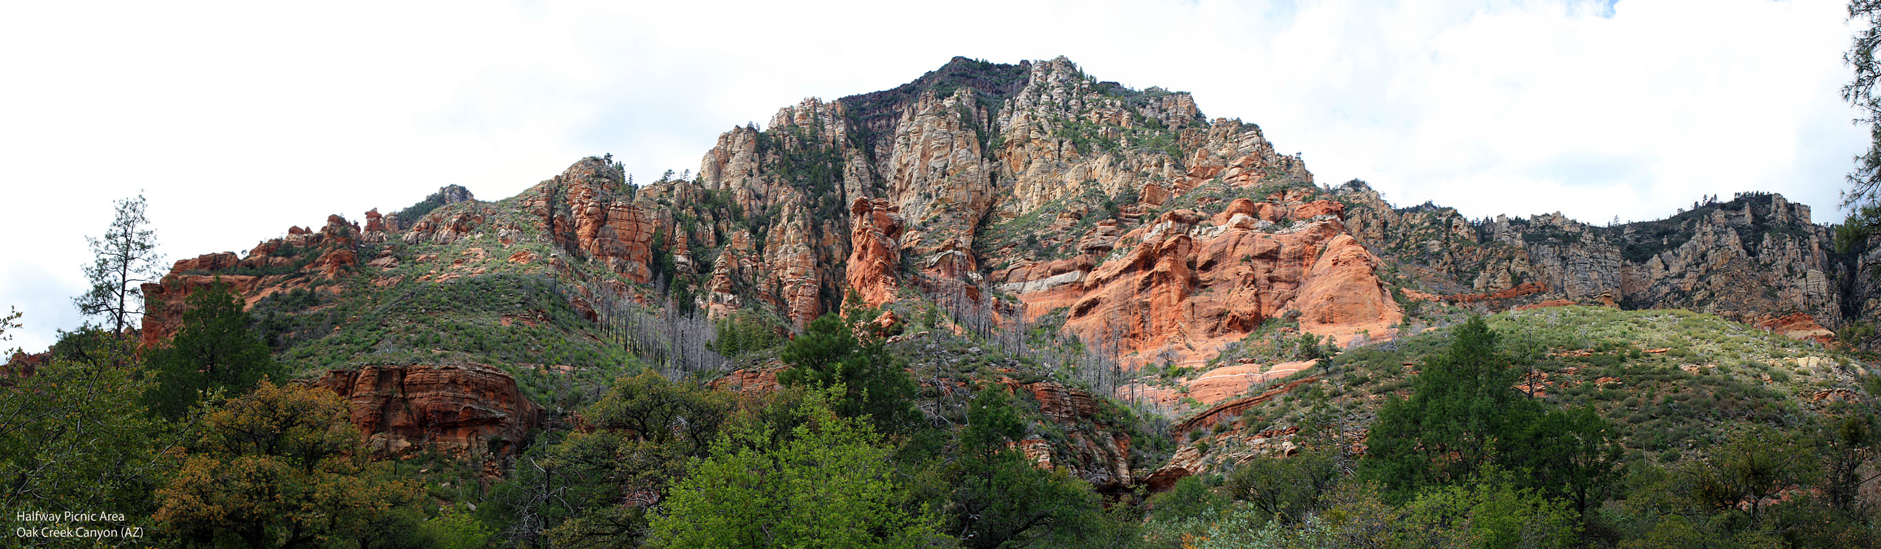
[[[1554,306],[1488,322],[1518,369],[1546,374],[1537,399],[1593,406],[1627,431],[1629,451],[1659,461],[1723,442],[1744,423],[1798,427],[1841,406],[1813,397],[1860,391],[1866,374],[1843,352],[1687,310]],[[1257,406],[1247,419],[1287,427],[1337,410],[1369,421],[1384,395],[1407,395],[1413,369],[1446,344],[1448,329],[1435,329],[1351,350],[1320,370],[1326,384]]]

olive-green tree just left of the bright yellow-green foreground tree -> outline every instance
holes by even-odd
[[[636,547],[687,461],[707,455],[732,395],[645,372],[615,382],[581,412],[589,431],[570,432],[547,466],[570,481],[572,517],[547,530],[557,547]]]

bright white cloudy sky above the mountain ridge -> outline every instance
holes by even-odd
[[[905,4],[905,6],[903,6]],[[1834,222],[1866,145],[1826,0],[6,2],[0,312],[83,318],[87,235],[143,194],[167,261],[444,184],[500,199],[611,152],[698,169],[720,132],[952,56],[1059,55],[1260,124],[1320,184],[1465,216],[1665,218],[1779,192]]]

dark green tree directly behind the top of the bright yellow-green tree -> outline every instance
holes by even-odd
[[[779,372],[777,382],[786,387],[848,387],[835,402],[845,417],[869,416],[877,431],[890,434],[907,432],[920,421],[912,400],[914,378],[903,361],[888,352],[882,338],[858,338],[841,316],[813,320],[781,357],[790,369]]]

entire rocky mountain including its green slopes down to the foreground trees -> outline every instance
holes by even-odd
[[[1826,440],[1825,421],[1872,416],[1877,387],[1881,241],[1838,250],[1808,205],[1751,192],[1610,226],[1398,207],[1362,180],[1315,182],[1258,126],[1208,118],[1185,92],[1067,58],[954,58],[892,90],[803,100],[724,132],[696,171],[632,180],[591,156],[512,197],[446,186],[177,261],[143,288],[141,346],[166,346],[190,295],[229,284],[275,359],[346,397],[376,455],[406,461],[436,504],[519,506],[529,481],[566,474],[553,466],[606,468],[664,440],[615,417],[640,399],[628,389],[762,421],[830,408],[786,391],[786,363],[841,348],[813,322],[850,314],[824,329],[878,355],[826,363],[912,380],[912,427],[880,427],[897,474],[959,474],[984,410],[969,402],[1004,387],[1016,412],[988,455],[1014,449],[1115,513],[1153,510],[1104,523],[1149,538],[1226,521],[1161,513],[1241,498],[1234,476],[1273,457],[1334,459],[1349,478],[1386,402],[1413,397],[1477,316],[1499,337],[1494,363],[1522,370],[1524,406],[1610,421],[1635,476],[1714,463],[1751,432]],[[670,431],[696,431],[698,410]],[[579,446],[608,436],[624,442]],[[609,485],[624,494],[589,494],[608,502],[594,521],[619,523],[570,510],[502,525],[534,528],[515,534],[529,543],[557,521],[647,536],[666,489],[696,474],[687,459],[707,457],[687,444],[645,457],[643,483]],[[1578,511],[1618,540],[1621,519]],[[1627,536],[1665,523],[1640,525]]]

